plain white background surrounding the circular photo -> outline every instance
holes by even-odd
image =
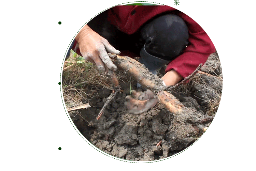
[[[113,1],[61,1],[60,55]],[[1,170],[253,170],[255,153],[254,1],[157,1],[193,18],[214,43],[223,95],[205,134],[167,160],[143,164],[108,157],[76,132],[59,104],[59,2],[1,2]],[[59,107],[59,105],[61,105]]]

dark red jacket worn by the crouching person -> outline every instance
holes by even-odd
[[[189,44],[182,55],[171,61],[166,72],[174,69],[182,77],[189,76],[200,63],[204,64],[215,47],[205,31],[189,16],[170,6],[115,6],[108,10],[108,20],[119,30],[127,34],[136,32],[152,17],[171,12],[180,16],[189,30]]]

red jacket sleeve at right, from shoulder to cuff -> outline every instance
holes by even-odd
[[[205,63],[209,55],[215,52],[215,47],[209,36],[193,19],[181,12],[178,15],[188,26],[189,44],[182,55],[168,64],[166,72],[174,69],[185,78],[193,73],[200,63]]]

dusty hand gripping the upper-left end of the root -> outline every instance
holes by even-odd
[[[85,25],[75,40],[79,44],[84,59],[95,63],[101,72],[106,72],[107,68],[113,71],[117,70],[107,52],[119,55],[120,51],[111,46],[105,38],[90,29],[89,26]]]

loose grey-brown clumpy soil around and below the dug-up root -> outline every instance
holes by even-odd
[[[101,87],[93,98],[87,97],[91,107],[69,112],[70,117],[88,141],[112,156],[132,161],[172,156],[193,144],[203,133],[196,127],[197,123],[187,124],[189,120],[214,117],[217,111],[222,93],[222,71],[217,53],[209,57],[201,71],[211,76],[196,74],[194,81],[172,92],[190,113],[185,111],[175,116],[158,103],[142,114],[129,114],[124,102],[130,94],[130,82],[119,82],[122,92],[114,97],[99,120],[96,117],[112,92],[105,87]],[[131,86],[136,89],[136,84]],[[204,125],[209,126],[210,122]]]

